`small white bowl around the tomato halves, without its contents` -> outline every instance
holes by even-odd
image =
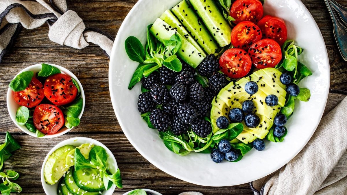
[[[82,100],[83,100],[83,107],[82,107],[82,111],[81,113],[78,115],[78,118],[81,119],[82,117],[82,114],[83,114],[83,111],[84,111],[84,105],[85,105],[85,95],[84,95],[84,91],[83,91],[83,87],[81,85],[81,83],[79,82],[78,78],[73,74],[71,73],[68,69],[64,68],[64,67],[61,67],[61,66],[58,66],[58,65],[54,65],[54,64],[51,64],[51,63],[47,63],[51,66],[54,66],[56,68],[58,68],[61,73],[63,74],[66,74],[70,77],[72,77],[73,79],[75,79],[79,85],[79,88],[81,90],[81,97],[82,97]],[[38,73],[42,68],[42,63],[39,63],[39,64],[35,64],[35,65],[32,65],[32,66],[29,66],[29,67],[26,67],[24,68],[22,71],[20,71],[17,75],[19,75],[20,73],[24,72],[24,71],[33,71],[34,72],[34,75],[36,75],[36,73]],[[16,76],[17,76],[16,75]],[[16,76],[14,78],[16,78]],[[42,83],[43,85],[44,83]],[[17,102],[13,99],[13,91],[8,88],[7,90],[7,109],[8,109],[8,113],[10,114],[10,117],[12,119],[12,121],[17,125],[17,127],[22,130],[24,133],[28,134],[28,135],[31,135],[33,137],[36,137],[36,134],[34,132],[31,132],[29,131],[25,125],[18,125],[17,122],[16,122],[16,112],[17,112],[17,109],[20,107],[19,104],[17,104]],[[71,128],[72,129],[72,128]],[[58,137],[58,136],[61,136],[61,135],[64,135],[66,134],[67,132],[69,132],[71,129],[68,129],[67,127],[64,127],[64,128],[61,128],[57,133],[55,134],[52,134],[52,135],[45,135],[41,138],[52,138],[52,137]]]

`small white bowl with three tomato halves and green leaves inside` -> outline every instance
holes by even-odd
[[[78,126],[83,87],[64,67],[36,64],[20,71],[7,91],[7,108],[17,127],[34,137],[58,137]]]

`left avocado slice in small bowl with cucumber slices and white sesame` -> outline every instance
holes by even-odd
[[[44,179],[47,184],[53,185],[67,171],[65,167],[66,157],[75,146],[65,145],[54,151],[49,157],[43,169]]]

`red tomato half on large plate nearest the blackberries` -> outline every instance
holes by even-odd
[[[251,70],[252,60],[243,49],[228,49],[219,59],[219,68],[230,78],[241,78]]]

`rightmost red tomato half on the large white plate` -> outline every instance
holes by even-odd
[[[287,27],[281,18],[275,16],[264,16],[258,23],[263,39],[273,39],[281,46],[287,40]]]

